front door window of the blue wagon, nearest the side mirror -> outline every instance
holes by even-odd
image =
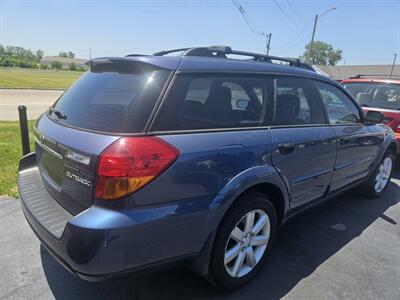
[[[360,111],[357,106],[338,88],[331,84],[316,81],[325,104],[330,124],[355,124],[360,123]]]

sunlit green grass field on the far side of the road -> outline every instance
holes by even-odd
[[[0,68],[0,88],[66,89],[81,72]]]

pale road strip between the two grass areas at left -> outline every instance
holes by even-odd
[[[28,119],[36,119],[52,105],[64,91],[0,89],[0,120],[18,120],[18,105],[28,108]]]

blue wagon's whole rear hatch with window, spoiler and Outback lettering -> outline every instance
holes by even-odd
[[[171,69],[135,59],[101,59],[35,124],[46,189],[75,215],[92,204],[100,153],[121,135],[142,135]]]

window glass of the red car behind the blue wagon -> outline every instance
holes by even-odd
[[[343,86],[361,106],[400,110],[399,84],[354,82]]]

